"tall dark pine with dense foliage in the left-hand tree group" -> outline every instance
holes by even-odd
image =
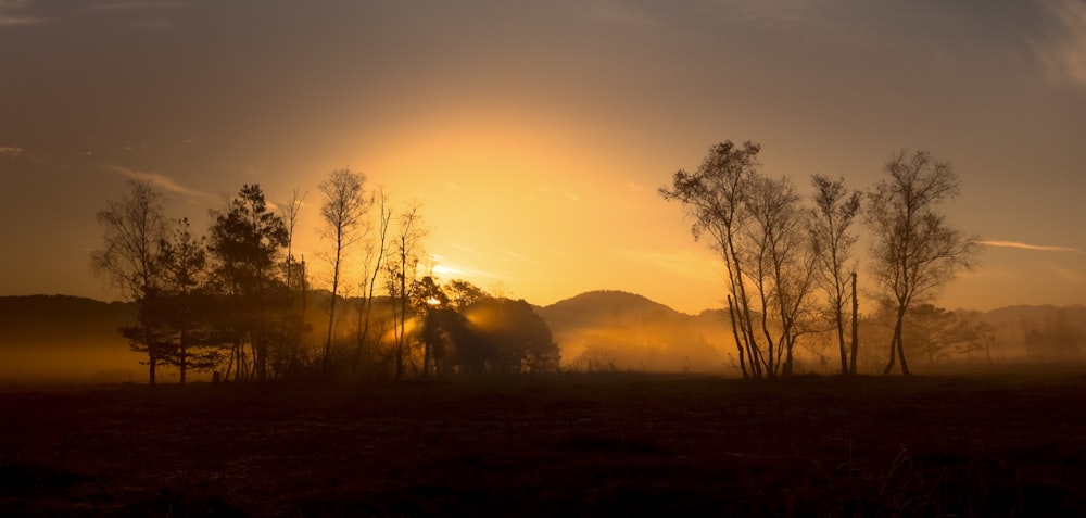
[[[213,212],[209,250],[216,260],[215,276],[230,303],[226,306],[232,327],[231,366],[238,375],[245,368],[240,340],[248,339],[253,352],[253,376],[267,379],[268,345],[273,327],[281,321],[275,315],[282,304],[277,300],[285,283],[276,276],[280,250],[287,244],[287,227],[268,211],[264,192],[257,185],[242,186],[229,202],[226,213]],[[227,369],[229,372],[229,367]]]

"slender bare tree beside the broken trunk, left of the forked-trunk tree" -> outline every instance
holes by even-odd
[[[860,212],[860,192],[845,188],[845,180],[831,180],[821,175],[811,177],[815,207],[810,212],[810,239],[818,265],[819,283],[826,294],[830,317],[837,331],[841,374],[856,374],[856,349],[845,346],[845,308],[849,303],[848,282],[856,266],[849,270],[856,236],[849,232]],[[855,345],[855,343],[854,343]]]

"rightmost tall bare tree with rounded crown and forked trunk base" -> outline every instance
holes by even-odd
[[[913,302],[924,301],[959,271],[972,267],[978,253],[975,239],[950,227],[938,212],[943,202],[960,191],[960,180],[949,162],[926,151],[901,150],[885,165],[884,177],[869,194],[867,223],[871,244],[872,277],[896,311],[889,362],[883,374],[901,362],[909,376],[901,329]]]

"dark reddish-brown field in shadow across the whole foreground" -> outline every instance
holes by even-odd
[[[1086,376],[0,390],[0,516],[1081,516]]]

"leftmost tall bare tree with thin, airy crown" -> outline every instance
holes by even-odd
[[[105,276],[122,295],[138,306],[138,327],[127,330],[132,349],[148,355],[148,384],[155,382],[161,346],[154,328],[159,325],[159,292],[163,283],[162,243],[166,240],[166,218],[162,194],[148,181],[132,180],[128,194],[106,202],[98,213],[103,228],[101,250],[91,255],[94,273]]]

